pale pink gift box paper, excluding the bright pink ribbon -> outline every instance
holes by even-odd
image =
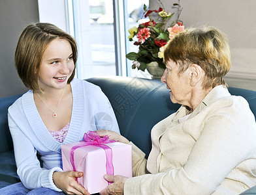
[[[70,159],[70,151],[73,146],[80,144],[75,142],[61,146],[63,171],[73,170]],[[132,177],[132,153],[131,145],[120,142],[105,144],[112,148],[112,163],[114,175]],[[100,192],[108,186],[104,179],[106,174],[106,153],[99,146],[82,146],[74,151],[74,166],[76,171],[84,172],[78,178],[78,183],[88,190],[90,194]]]

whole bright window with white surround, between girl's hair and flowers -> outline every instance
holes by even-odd
[[[144,12],[143,5],[148,5],[148,0],[38,0],[38,2],[41,22],[54,23],[76,38],[78,78],[86,79],[102,75],[150,78],[147,73],[131,70],[132,62],[125,58],[126,53],[138,49],[133,42],[129,42],[128,29],[138,25],[138,20],[142,18]]]

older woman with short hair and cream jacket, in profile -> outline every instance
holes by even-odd
[[[187,29],[164,53],[161,81],[182,106],[152,129],[144,153],[133,145],[133,176],[105,175],[101,194],[239,194],[256,185],[255,118],[246,99],[231,96],[223,77],[231,67],[225,34],[214,27]]]

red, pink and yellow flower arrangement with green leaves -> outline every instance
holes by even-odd
[[[159,0],[159,3],[161,1]],[[163,4],[161,3],[163,6]],[[140,23],[138,27],[129,29],[130,41],[134,41],[134,45],[138,45],[138,52],[130,52],[126,55],[127,59],[133,60],[132,68],[144,71],[146,64],[150,62],[157,62],[159,67],[165,68],[163,62],[163,49],[167,42],[174,36],[174,34],[184,31],[182,21],[179,21],[180,12],[182,8],[179,3],[174,3],[178,6],[178,14],[176,21],[170,23],[174,13],[166,12],[163,8],[159,7],[158,10],[149,10],[144,5],[144,18],[149,21]],[[168,25],[168,27],[167,27]]]

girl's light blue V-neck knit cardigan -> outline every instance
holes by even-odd
[[[63,143],[57,142],[42,122],[29,90],[8,109],[8,125],[14,143],[17,173],[29,189],[47,187],[61,191],[52,181],[54,171],[62,171],[61,144],[78,142],[84,133],[107,129],[120,133],[108,98],[99,86],[74,79],[72,115]],[[98,119],[99,118],[99,119]],[[37,152],[42,155],[40,168]]]

